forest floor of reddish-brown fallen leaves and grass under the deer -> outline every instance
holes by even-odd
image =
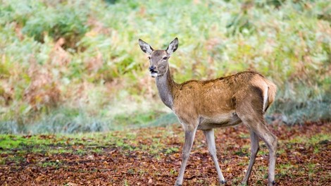
[[[331,123],[268,125],[278,137],[277,185],[331,184]],[[249,163],[249,132],[217,129],[227,185],[240,185]],[[0,135],[0,185],[173,185],[181,162],[180,125],[76,135]],[[268,149],[249,180],[266,185]],[[203,132],[198,131],[183,185],[218,185]]]

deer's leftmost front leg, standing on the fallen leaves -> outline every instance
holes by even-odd
[[[196,128],[194,130],[185,129],[185,143],[182,149],[182,165],[180,165],[180,173],[178,174],[177,181],[175,185],[182,185],[182,180],[184,178],[184,172],[187,164],[187,160],[189,159],[189,153],[192,149],[192,144],[194,141]]]

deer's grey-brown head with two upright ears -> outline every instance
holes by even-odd
[[[165,50],[154,50],[149,44],[139,39],[139,46],[144,53],[149,55],[149,71],[151,77],[157,77],[165,74],[168,70],[168,59],[170,55],[178,48],[177,37],[170,42]]]

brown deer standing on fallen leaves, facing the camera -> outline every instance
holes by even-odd
[[[219,183],[226,184],[216,156],[213,129],[239,124],[249,129],[251,140],[251,157],[242,183],[249,183],[261,138],[269,151],[268,185],[275,185],[277,137],[268,129],[263,116],[275,100],[276,85],[255,71],[244,71],[213,80],[189,80],[178,84],[170,74],[168,63],[170,56],[178,48],[177,37],[165,50],[154,50],[142,39],[139,39],[139,46],[148,54],[149,72],[151,77],[156,78],[161,101],[175,113],[185,130],[182,163],[175,185],[182,185],[196,130],[204,132]]]

